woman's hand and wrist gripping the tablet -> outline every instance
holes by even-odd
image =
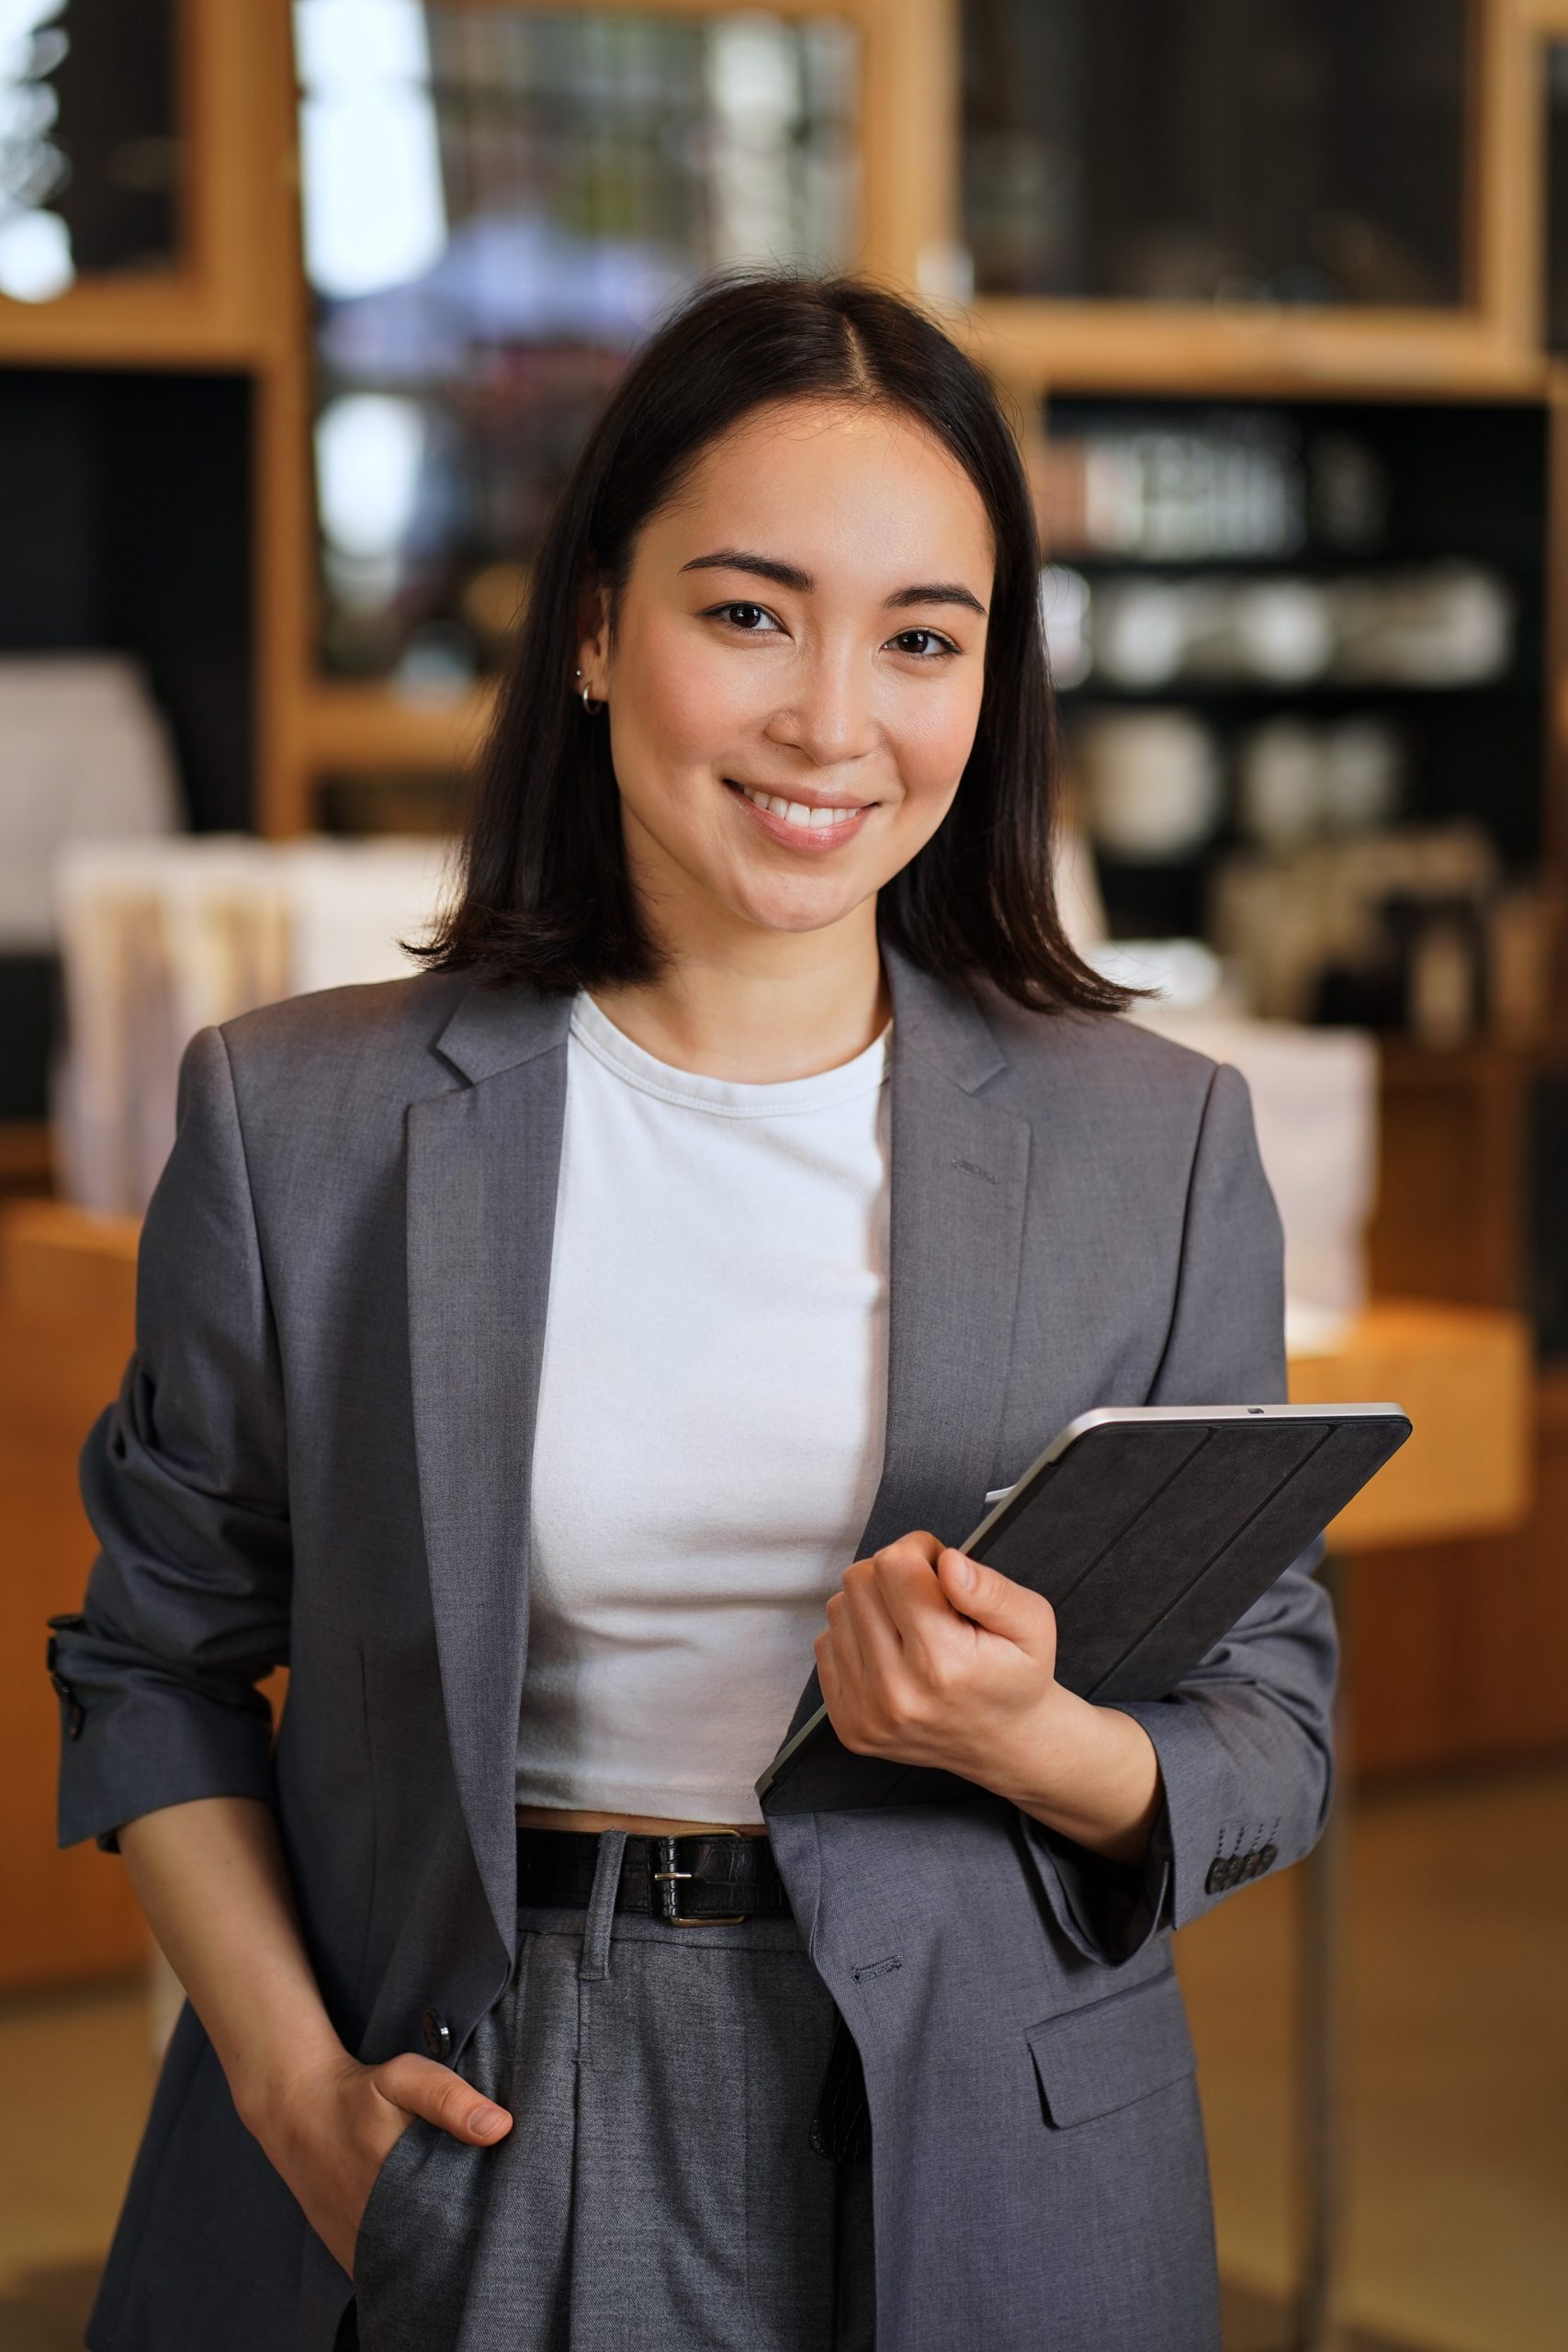
[[[856,1755],[959,1773],[1098,1853],[1143,1856],[1154,1745],[1131,1715],[1060,1686],[1039,1592],[931,1534],[903,1536],[844,1571],[816,1665]]]

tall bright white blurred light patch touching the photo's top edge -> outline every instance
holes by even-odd
[[[306,275],[350,299],[447,249],[430,40],[418,0],[296,0]]]

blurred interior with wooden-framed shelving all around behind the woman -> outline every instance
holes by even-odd
[[[733,261],[1006,388],[1074,934],[1253,1084],[1293,1395],[1418,1421],[1338,1837],[1178,1940],[1227,2352],[1563,2347],[1568,0],[0,0],[0,2345],[80,2340],[169,2018],[40,1628],[179,1051],[409,969]]]

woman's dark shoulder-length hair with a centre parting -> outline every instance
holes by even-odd
[[[1067,943],[1051,873],[1058,753],[1039,543],[1018,447],[985,374],[940,327],[856,278],[708,280],[625,369],[550,517],[480,762],[461,891],[418,950],[437,971],[576,990],[654,978],[621,835],[609,729],[574,687],[583,588],[616,597],[637,534],[701,454],[778,400],[903,409],[985,506],[997,569],[976,741],[933,837],[884,884],[882,936],[933,974],[1034,1009],[1114,1011],[1126,993]]]

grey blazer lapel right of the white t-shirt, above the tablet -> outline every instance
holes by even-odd
[[[980,1087],[1006,1063],[973,1000],[884,948],[893,993],[889,1395],[860,1557],[985,1517],[1023,1256],[1030,1127]],[[823,1703],[816,1672],[790,1722]]]

